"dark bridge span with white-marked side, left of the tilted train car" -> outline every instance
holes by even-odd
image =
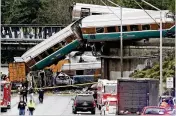
[[[62,30],[66,25],[2,24],[1,63],[7,66],[13,57]]]

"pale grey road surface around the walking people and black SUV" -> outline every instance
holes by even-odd
[[[72,116],[72,115],[91,115],[89,112],[78,112],[78,114],[72,114],[72,104],[71,100],[73,96],[63,96],[63,95],[45,95],[43,104],[38,102],[37,95],[34,96],[34,100],[36,103],[36,110],[34,111],[34,115],[57,115],[57,116]],[[28,97],[29,99],[29,97]],[[7,110],[7,112],[1,112],[1,115],[10,116],[10,115],[18,115],[18,102],[19,96],[12,97],[11,109]],[[28,111],[26,110],[26,115],[28,115]],[[96,110],[96,115],[100,115],[100,111]]]

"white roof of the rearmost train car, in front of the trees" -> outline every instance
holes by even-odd
[[[113,12],[120,13],[120,7],[83,4],[83,3],[76,3],[76,5],[74,5],[74,10],[81,10],[81,8],[90,8],[90,12],[95,12],[95,13],[107,13],[107,14],[113,14]],[[128,11],[134,12],[134,11],[141,11],[141,10],[142,9],[125,8],[125,7],[123,8],[124,12],[128,12]],[[152,10],[148,10],[148,11],[152,11]]]

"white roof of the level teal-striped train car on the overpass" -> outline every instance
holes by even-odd
[[[173,20],[171,18],[166,18],[166,13],[168,11],[163,11],[162,21]],[[148,12],[156,22],[160,23],[160,12],[159,11],[149,11]],[[148,16],[144,11],[136,11],[135,13],[126,12],[123,13],[122,24],[131,25],[131,24],[148,24],[155,23],[155,21]],[[105,15],[91,15],[85,17],[82,20],[82,27],[105,27],[105,26],[114,26],[120,25],[120,14],[105,14]]]

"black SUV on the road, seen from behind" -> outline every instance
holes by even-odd
[[[77,94],[75,98],[72,98],[72,100],[73,114],[76,114],[77,111],[91,111],[91,114],[95,114],[96,103],[92,94]]]

